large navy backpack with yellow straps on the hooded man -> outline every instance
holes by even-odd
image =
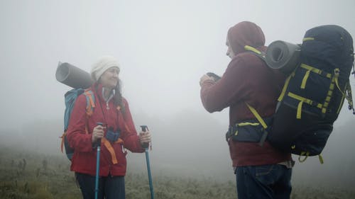
[[[299,155],[301,162],[307,157],[318,156],[323,163],[320,154],[344,99],[355,114],[349,82],[351,68],[354,71],[351,35],[338,25],[312,28],[305,33],[300,50],[295,50],[296,56],[286,55],[290,54],[288,50],[273,49],[272,45],[266,53],[250,46],[245,49],[266,61],[272,69],[288,72],[275,114],[269,120],[261,118],[257,110],[246,104],[256,120],[239,123],[227,134],[229,137],[235,135],[235,140],[261,145],[268,140],[283,152]],[[269,64],[268,56],[273,57],[274,65]],[[283,63],[283,58],[293,64],[292,69],[290,64]],[[281,65],[283,68],[279,68]],[[252,135],[256,138],[251,139]]]

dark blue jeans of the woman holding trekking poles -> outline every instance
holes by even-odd
[[[75,173],[83,199],[95,198],[95,176]],[[99,199],[124,199],[126,198],[124,176],[99,177]]]

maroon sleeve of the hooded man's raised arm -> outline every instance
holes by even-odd
[[[201,87],[201,100],[209,113],[221,111],[233,103],[249,96],[252,79],[246,76],[250,67],[244,60],[236,57],[229,63],[226,72],[219,81],[204,81]]]

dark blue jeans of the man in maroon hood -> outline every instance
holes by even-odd
[[[291,175],[280,164],[236,167],[238,199],[289,199]]]

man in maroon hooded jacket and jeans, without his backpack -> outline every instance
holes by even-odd
[[[229,107],[226,138],[238,198],[290,198],[291,155],[274,149],[267,140],[259,142],[265,131],[247,106],[269,121],[285,76],[246,50],[246,45],[266,50],[263,31],[255,23],[243,21],[229,28],[226,45],[231,62],[221,79],[207,74],[201,77],[201,100],[209,113]]]

